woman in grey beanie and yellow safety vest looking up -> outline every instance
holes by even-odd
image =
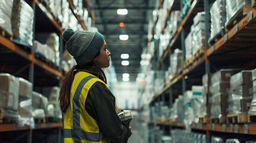
[[[111,55],[103,35],[66,29],[63,39],[77,63],[60,89],[64,142],[127,142],[131,127],[119,119],[115,97],[101,70],[109,67]]]

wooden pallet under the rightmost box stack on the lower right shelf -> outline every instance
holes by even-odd
[[[227,122],[228,123],[248,123],[249,116],[247,113],[229,114],[229,115],[227,115]]]

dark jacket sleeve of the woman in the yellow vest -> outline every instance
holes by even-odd
[[[92,117],[97,121],[101,132],[110,141],[114,143],[128,141],[131,130],[122,125],[115,111],[115,97],[106,85],[95,82],[91,86],[85,101],[85,109],[90,110],[87,112],[93,114]]]

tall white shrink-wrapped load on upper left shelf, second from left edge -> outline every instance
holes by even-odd
[[[33,46],[34,11],[24,0],[14,0],[11,14],[13,41],[25,46]]]

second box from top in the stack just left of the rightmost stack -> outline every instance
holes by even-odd
[[[209,92],[211,95],[222,93],[229,94],[230,84],[229,82],[216,82],[209,86]]]

